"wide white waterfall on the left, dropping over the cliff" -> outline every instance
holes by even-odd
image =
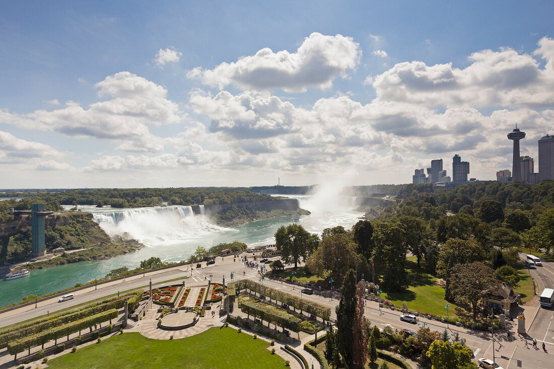
[[[200,209],[201,214],[196,216],[191,206],[111,209],[94,212],[93,221],[112,237],[159,245],[222,229],[203,215],[203,205]]]

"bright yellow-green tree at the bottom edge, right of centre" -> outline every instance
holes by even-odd
[[[477,368],[477,365],[471,362],[469,347],[459,342],[451,345],[448,341],[435,340],[425,355],[431,361],[433,369]]]

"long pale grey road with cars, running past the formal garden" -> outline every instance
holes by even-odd
[[[250,259],[252,259],[252,254],[249,254],[249,257]],[[205,263],[202,264],[206,265]],[[239,259],[233,262],[232,256],[227,257],[224,260],[217,259],[216,264],[207,267],[205,266],[204,268],[194,269],[192,270],[192,272],[187,265],[176,266],[174,268],[169,268],[162,271],[147,272],[145,276],[139,275],[123,280],[113,281],[98,286],[98,289],[95,289],[94,286],[91,286],[88,289],[76,291],[75,299],[65,301],[64,303],[58,303],[58,298],[53,298],[42,301],[38,304],[38,307],[36,308],[34,306],[27,306],[13,311],[0,313],[0,327],[28,320],[33,317],[42,316],[56,310],[84,304],[87,301],[99,299],[104,296],[117,294],[117,291],[125,291],[139,287],[146,287],[148,286],[150,280],[152,280],[153,286],[161,284],[164,281],[173,279],[177,279],[175,282],[176,284],[181,283],[181,281],[184,280],[186,281],[187,285],[201,284],[204,279],[210,278],[212,278],[213,281],[217,282],[221,282],[223,281],[223,278],[225,278],[225,283],[229,283],[230,273],[232,271],[235,272],[234,274],[235,276],[237,276],[237,278],[249,278],[256,281],[259,281],[260,278],[259,274],[257,274],[256,269],[246,268],[244,264],[239,261]],[[533,271],[531,273],[533,273]],[[541,279],[541,283],[551,283],[550,278],[547,278],[550,273],[554,274],[554,269],[551,268],[550,265],[548,265],[548,267],[545,266],[544,270],[542,271],[544,280]],[[188,276],[188,278],[182,279],[184,276]],[[541,278],[541,276],[537,274],[536,278]],[[297,288],[296,286],[287,283],[281,283],[277,280],[265,279],[264,283],[268,286],[274,287],[276,289],[281,289],[288,293],[299,294],[300,292],[299,288]],[[167,283],[163,284],[165,285]],[[338,301],[335,298],[331,300],[329,291],[323,291],[322,293],[320,293],[316,290],[316,293],[313,295],[302,294],[301,296],[304,299],[315,301],[322,305],[331,307],[331,316],[336,318],[335,306],[338,304]],[[551,346],[551,351],[554,352],[554,340],[549,338],[550,333],[554,329],[554,324],[548,327],[546,330],[540,331],[540,329],[542,329],[545,324],[546,326],[548,326],[547,321],[551,322],[553,319],[552,311],[548,311],[550,313],[549,315],[545,315],[546,312],[547,310],[541,310],[540,314],[537,314],[537,316],[540,316],[539,319],[541,319],[541,321],[538,324],[536,324],[536,322],[533,322],[530,332],[533,332],[533,334],[537,335],[537,337],[539,334],[542,334],[541,338],[545,336],[545,333],[547,333],[547,337],[545,339],[547,340],[548,344],[553,345]],[[466,340],[466,345],[468,345],[470,349],[474,352],[476,358],[492,358],[493,356],[492,341],[489,332],[471,331],[462,327],[456,327],[455,325],[447,326],[447,324],[443,324],[440,321],[427,320],[425,318],[422,318],[420,321],[418,321],[417,324],[403,322],[399,319],[399,316],[401,314],[398,311],[392,311],[383,308],[379,310],[378,304],[370,300],[366,301],[365,313],[366,317],[371,321],[371,324],[377,325],[381,328],[384,327],[384,325],[389,324],[396,329],[408,329],[411,331],[417,331],[420,326],[426,324],[430,329],[439,332],[443,332],[445,329],[447,329],[451,337],[453,337],[456,332],[458,332],[460,339]],[[543,321],[543,319],[545,320]],[[515,321],[508,322],[511,332],[516,331],[516,327],[514,325],[515,323]],[[552,334],[551,336],[554,336],[554,334]],[[507,340],[505,333],[496,335],[496,340],[497,342],[495,343],[494,352],[495,356],[499,358],[497,362],[506,369],[509,368],[510,365],[512,365],[512,367],[516,367],[516,361],[509,360],[515,357],[519,358],[522,361],[523,367],[525,368],[541,368],[544,366],[540,365],[540,361],[545,362],[544,360],[550,360],[550,356],[548,356],[547,353],[543,353],[542,350],[535,351],[525,349],[524,341],[522,340],[517,340],[514,338],[512,338],[511,340]],[[543,355],[545,357],[542,357]],[[500,356],[504,356],[505,359],[500,358]]]

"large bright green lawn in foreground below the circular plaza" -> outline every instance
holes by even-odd
[[[50,368],[281,368],[268,342],[231,327],[212,327],[180,340],[152,340],[131,332],[48,361]]]

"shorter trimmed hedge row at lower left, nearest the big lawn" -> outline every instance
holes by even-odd
[[[44,345],[49,341],[60,339],[61,337],[68,336],[72,333],[79,332],[80,330],[90,328],[96,324],[116,318],[117,309],[102,311],[93,316],[88,316],[68,324],[55,326],[37,334],[23,337],[17,341],[9,342],[8,352],[10,355],[17,355],[17,353],[22,352],[23,350]]]

